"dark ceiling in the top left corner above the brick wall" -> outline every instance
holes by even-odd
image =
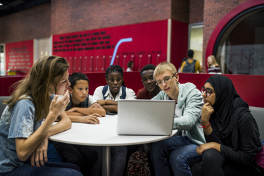
[[[39,6],[51,0],[0,0],[0,18],[27,8]]]

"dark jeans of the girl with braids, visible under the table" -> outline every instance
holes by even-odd
[[[127,164],[128,146],[111,147],[111,176],[123,175]]]

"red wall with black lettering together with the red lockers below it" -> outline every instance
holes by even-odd
[[[120,39],[132,38],[118,47],[113,64],[127,69],[134,61],[134,71],[144,65],[166,61],[168,20],[108,27],[53,35],[53,54],[70,63],[70,73],[104,72],[110,65],[115,45]]]

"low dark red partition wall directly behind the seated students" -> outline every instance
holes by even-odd
[[[104,73],[86,73],[89,78],[89,94],[94,94],[96,87],[106,85]],[[180,83],[192,82],[198,89],[203,87],[204,82],[210,77],[210,74],[179,73]],[[264,108],[264,76],[261,75],[225,75],[229,77],[237,89],[237,93],[249,106]],[[9,96],[8,89],[14,82],[17,82],[23,76],[0,77],[0,96]],[[124,81],[128,88],[136,92],[143,87],[139,72],[125,72]]]

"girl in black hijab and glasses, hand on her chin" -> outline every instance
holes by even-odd
[[[264,175],[264,149],[249,105],[232,81],[213,75],[202,87],[201,127],[206,138],[195,175]]]

